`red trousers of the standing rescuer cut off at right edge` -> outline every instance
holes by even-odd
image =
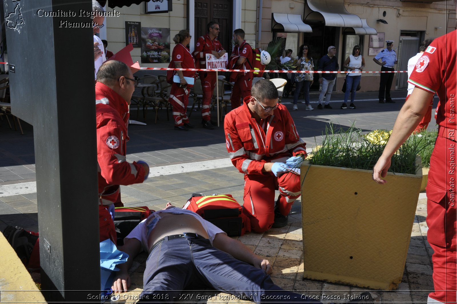
[[[442,137],[440,127],[430,158],[427,183],[427,240],[434,250],[431,299],[441,303],[456,303],[457,290],[457,175],[455,155],[457,142]],[[441,133],[440,133],[441,132]],[[452,136],[455,136],[453,134]],[[455,138],[455,137],[454,137]]]

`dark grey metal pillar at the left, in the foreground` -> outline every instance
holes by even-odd
[[[91,1],[3,3],[12,111],[34,131],[42,289],[83,302],[100,289],[94,61],[92,28],[73,22],[92,21]]]

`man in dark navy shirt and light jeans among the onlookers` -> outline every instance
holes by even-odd
[[[338,59],[335,57],[336,48],[332,45],[327,49],[327,54],[319,59],[318,71],[338,71],[340,65],[338,65]],[[332,109],[329,104],[330,97],[332,96],[333,86],[335,85],[336,74],[335,73],[323,73],[320,74],[319,83],[322,84],[322,91],[319,95],[318,109],[322,109],[322,101],[325,95],[325,109]]]

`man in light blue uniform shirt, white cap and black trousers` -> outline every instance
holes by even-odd
[[[382,65],[381,71],[393,71],[394,65],[398,63],[397,54],[392,49],[393,40],[386,40],[387,48],[383,49],[379,54],[377,54],[373,61],[378,65]],[[379,62],[381,59],[382,62]],[[390,98],[390,87],[392,87],[393,73],[381,73],[381,82],[379,83],[379,103],[384,103],[384,92],[386,96],[386,103],[395,103],[392,98]]]

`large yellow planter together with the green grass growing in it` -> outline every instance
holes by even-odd
[[[394,289],[403,277],[421,184],[417,136],[392,158],[387,183],[372,180],[385,143],[352,125],[329,125],[301,167],[303,277]]]

